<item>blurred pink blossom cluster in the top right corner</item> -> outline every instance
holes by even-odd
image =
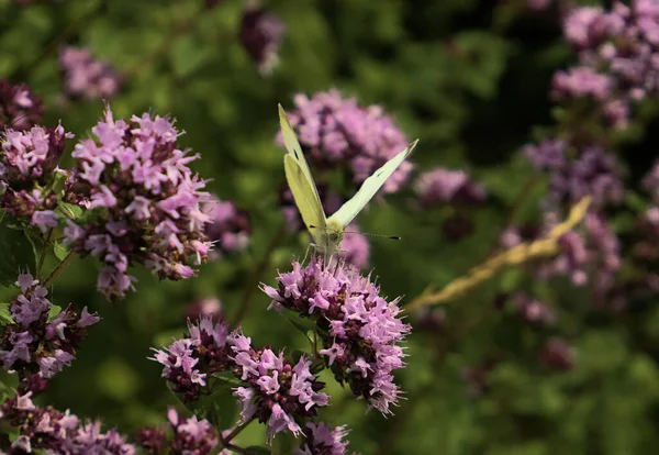
[[[605,124],[622,129],[633,104],[659,92],[659,10],[654,0],[616,1],[610,11],[574,8],[563,20],[563,34],[580,63],[556,75],[559,99],[593,98]]]

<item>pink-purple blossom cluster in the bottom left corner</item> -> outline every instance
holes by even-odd
[[[32,392],[19,395],[5,399],[0,407],[0,422],[19,430],[19,439],[12,444],[16,453],[33,450],[70,455],[136,453],[116,431],[102,433],[100,422],[81,422],[69,411],[52,407],[37,408],[31,398]]]

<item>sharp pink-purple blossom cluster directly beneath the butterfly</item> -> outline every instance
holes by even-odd
[[[356,267],[324,268],[319,258],[305,268],[293,263],[293,270],[280,274],[277,281],[277,288],[261,285],[272,299],[270,308],[311,318],[319,325],[324,347],[320,353],[335,378],[369,407],[391,413],[389,406],[400,395],[392,373],[405,365],[399,343],[410,332],[398,299],[381,298],[379,288]]]

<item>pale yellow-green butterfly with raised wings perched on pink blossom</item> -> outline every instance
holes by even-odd
[[[283,156],[283,170],[289,184],[295,206],[302,215],[302,221],[313,237],[311,246],[327,257],[339,252],[339,245],[343,241],[346,226],[357,217],[366,204],[376,196],[376,192],[384,185],[387,179],[412,153],[418,140],[411,143],[404,151],[400,152],[393,158],[384,163],[382,167],[376,170],[367,178],[357,193],[344,203],[332,217],[327,218],[323,210],[323,203],[319,196],[319,190],[311,176],[311,170],[304,159],[302,147],[286,112],[279,104],[279,122],[287,154]]]

